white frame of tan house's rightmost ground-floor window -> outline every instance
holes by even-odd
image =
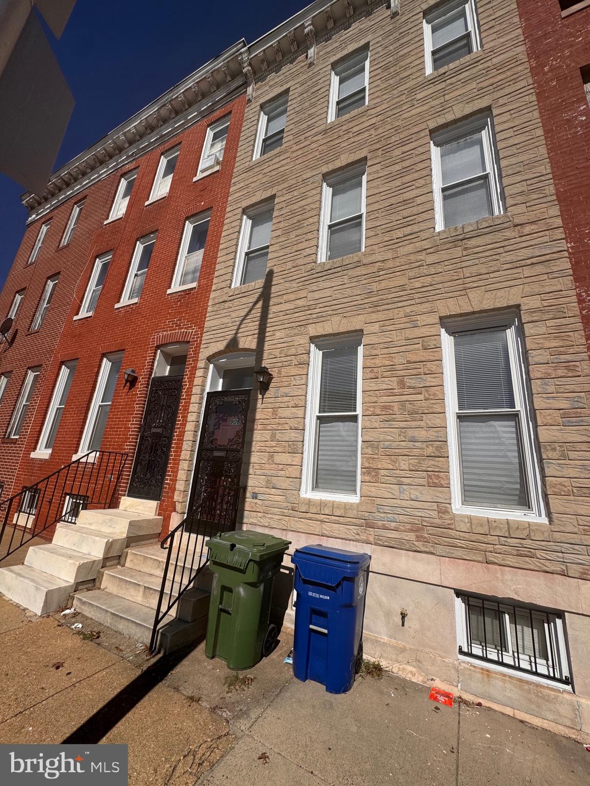
[[[457,425],[457,385],[455,376],[455,333],[470,330],[506,329],[508,354],[510,358],[512,387],[514,390],[514,410],[460,410],[462,414],[516,414],[522,443],[522,470],[529,496],[530,509],[476,507],[463,504],[461,487],[461,465],[459,451],[459,428]],[[443,355],[444,400],[447,415],[447,439],[449,468],[451,477],[452,510],[470,516],[489,516],[496,519],[536,521],[547,523],[543,483],[540,473],[540,453],[537,445],[537,428],[533,413],[533,398],[529,387],[526,365],[525,343],[522,325],[514,311],[500,314],[474,314],[466,318],[445,320],[441,325]]]

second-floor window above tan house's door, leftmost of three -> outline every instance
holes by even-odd
[[[260,281],[266,275],[274,211],[275,204],[266,203],[244,213],[232,286]]]

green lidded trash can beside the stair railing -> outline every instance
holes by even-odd
[[[220,532],[205,545],[213,573],[205,655],[235,671],[250,669],[275,646],[272,582],[290,541],[243,530]]]

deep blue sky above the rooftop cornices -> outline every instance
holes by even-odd
[[[311,0],[78,0],[53,51],[76,99],[61,167],[239,39],[253,42]],[[0,285],[24,234],[24,189],[0,174]]]

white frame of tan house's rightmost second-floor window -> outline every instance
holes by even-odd
[[[432,172],[433,172],[433,193],[434,193],[434,215],[435,215],[435,229],[437,232],[447,229],[444,226],[444,204],[442,196],[442,170],[441,170],[441,147],[451,144],[452,142],[461,141],[462,139],[475,134],[481,134],[484,143],[484,157],[485,168],[484,173],[478,174],[465,180],[457,180],[454,183],[448,183],[444,186],[445,189],[453,186],[468,183],[471,180],[478,180],[487,176],[489,183],[490,202],[492,204],[491,215],[502,215],[505,212],[503,195],[502,195],[502,178],[500,177],[500,163],[499,156],[496,149],[496,134],[494,134],[494,126],[492,115],[485,112],[483,115],[478,115],[459,123],[454,123],[452,126],[444,130],[437,131],[430,137],[430,155],[432,158]],[[462,225],[458,225],[462,226]],[[463,225],[464,226],[464,225]],[[450,228],[450,227],[449,227]]]

